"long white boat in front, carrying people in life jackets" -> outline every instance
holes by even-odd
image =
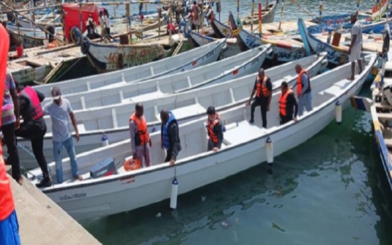
[[[298,121],[279,125],[280,91],[274,91],[271,110],[267,114],[267,129],[261,127],[260,120],[253,125],[249,124],[247,115],[250,108],[244,103],[224,110],[219,113],[226,127],[222,149],[217,152],[207,152],[205,128],[207,117],[203,108],[203,111],[200,111],[203,115],[201,118],[179,126],[182,151],[177,157],[175,166],[163,163],[165,152],[160,148],[161,135],[158,131],[150,134],[153,142],[150,167],[125,171],[122,162],[132,155],[127,139],[79,154],[77,156],[79,171],[85,178],[82,181],[70,179],[69,160],[65,160],[63,174],[68,181],[43,188],[42,191],[72,217],[85,219],[125,212],[166,200],[170,197],[171,183],[174,179],[178,181],[178,194],[182,194],[227,178],[260,162],[271,161],[274,156],[295,148],[324,129],[335,118],[335,104],[337,102],[342,105],[348,104],[350,96],[359,91],[375,62],[376,55],[366,57],[364,70],[353,81],[346,80],[350,72],[350,64],[313,78],[313,110],[300,116]],[[215,90],[219,86],[215,85],[205,90]],[[237,83],[237,86],[239,88],[243,85]],[[226,96],[220,97],[217,103],[226,105],[233,97],[248,97],[251,87],[247,85],[244,89],[235,89],[232,92],[230,88],[227,90],[219,88],[219,92],[225,91]],[[205,94],[202,90],[192,94],[193,97],[203,95]],[[206,106],[210,104],[207,101],[199,101]],[[170,107],[166,108],[170,109]],[[172,111],[172,113],[176,117],[181,117],[183,114],[179,111]],[[116,173],[101,178],[89,178],[91,167],[101,161],[114,161],[117,164]],[[50,164],[50,168],[51,172],[55,173],[54,163]],[[39,173],[39,169],[33,171],[34,175]],[[37,180],[33,180],[33,183],[37,183]],[[179,198],[181,200],[181,196]]]

